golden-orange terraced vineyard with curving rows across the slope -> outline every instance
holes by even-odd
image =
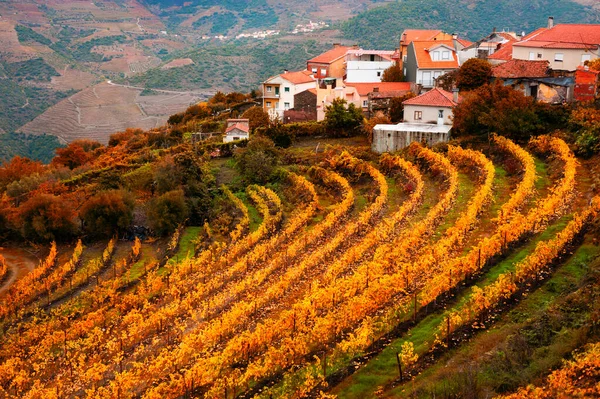
[[[550,278],[600,212],[562,140],[485,147],[332,152],[281,185],[248,186],[258,226],[223,186],[227,236],[194,245],[209,227],[181,227],[156,259],[138,239],[95,253],[53,244],[0,304],[0,397],[406,394],[407,376]],[[0,281],[9,268],[0,257]],[[576,377],[597,352],[550,384],[593,393]],[[369,383],[370,367],[384,377]]]

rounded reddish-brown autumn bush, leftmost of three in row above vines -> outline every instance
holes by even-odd
[[[18,211],[23,237],[28,240],[62,240],[75,232],[71,206],[54,195],[35,195],[21,205]]]

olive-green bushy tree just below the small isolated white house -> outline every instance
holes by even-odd
[[[264,184],[269,181],[279,164],[279,151],[275,143],[267,137],[256,136],[246,148],[240,148],[234,155],[236,165],[244,178],[251,183]]]

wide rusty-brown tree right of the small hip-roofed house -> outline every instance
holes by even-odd
[[[454,107],[456,135],[487,135],[495,132],[513,139],[550,129],[538,116],[534,99],[500,82],[466,93]]]

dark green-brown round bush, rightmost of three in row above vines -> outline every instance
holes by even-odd
[[[188,216],[183,190],[173,190],[154,198],[146,210],[150,226],[164,236],[175,231]]]

